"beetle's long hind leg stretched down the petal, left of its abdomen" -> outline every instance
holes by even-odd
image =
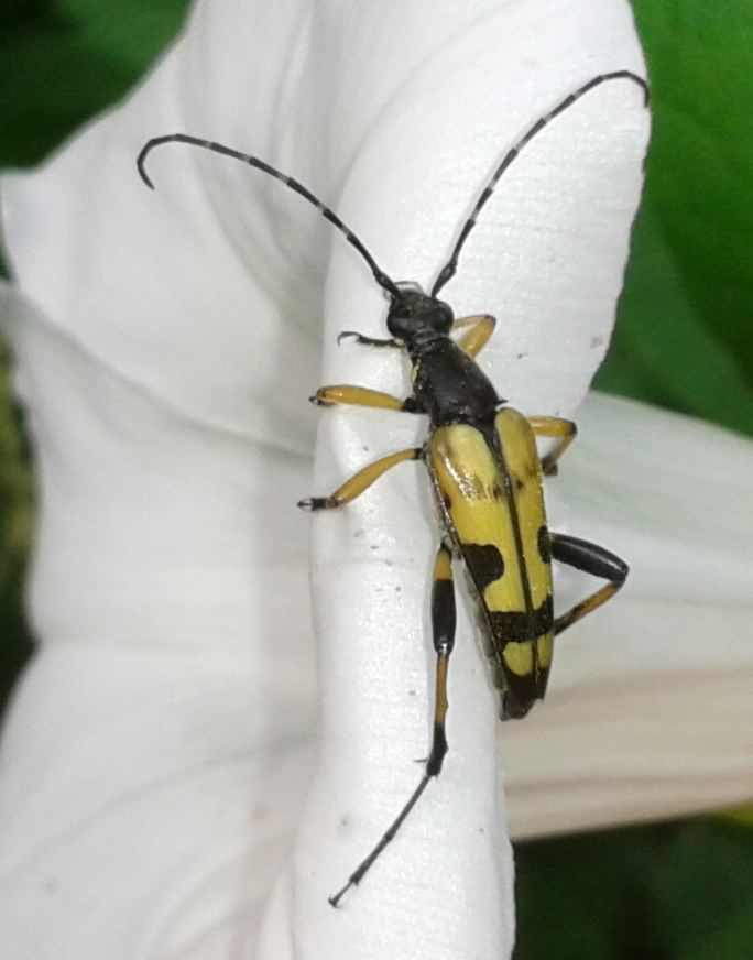
[[[445,718],[447,716],[447,667],[449,655],[455,644],[455,590],[452,587],[452,554],[443,544],[437,553],[434,564],[434,588],[432,590],[432,623],[434,628],[434,648],[437,653],[436,685],[434,698],[434,737],[432,739],[432,752],[426,761],[426,770],[418,786],[411,794],[408,801],[397,814],[382,839],[371,853],[361,861],[358,868],[348,877],[348,882],[336,894],[329,897],[329,903],[336,907],[342,896],[351,886],[357,886],[371,869],[374,861],[380,857],[384,848],[394,839],[397,830],[402,827],[405,818],[415,807],[418,798],[432,781],[438,776],[441,764],[447,753],[447,737],[445,734]]]

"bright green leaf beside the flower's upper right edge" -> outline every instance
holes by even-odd
[[[597,379],[753,434],[753,6],[636,0],[653,135]]]

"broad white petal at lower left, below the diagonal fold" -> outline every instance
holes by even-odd
[[[0,753],[4,942],[226,957],[228,939],[255,940],[310,773],[293,508],[308,461],[197,425],[12,306],[44,645]]]

